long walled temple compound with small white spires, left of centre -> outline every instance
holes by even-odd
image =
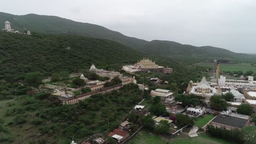
[[[119,72],[115,71],[107,71],[103,69],[97,69],[95,65],[91,65],[91,68],[89,70],[92,73],[96,73],[97,75],[100,75],[102,77],[108,77],[109,80],[107,81],[89,81],[88,78],[86,78],[83,74],[80,74],[79,79],[82,79],[86,82],[85,88],[90,88],[90,92],[82,94],[83,87],[79,88],[71,88],[67,86],[55,86],[55,85],[48,85],[45,84],[42,87],[48,88],[48,89],[54,89],[53,95],[56,95],[62,104],[75,104],[78,103],[79,100],[84,100],[86,98],[90,98],[91,95],[97,94],[97,93],[107,93],[111,92],[115,89],[119,89],[123,87],[124,85],[127,85],[129,83],[137,83],[135,77],[126,77],[123,76],[123,74],[120,74]],[[121,83],[118,85],[114,85],[111,87],[105,87],[105,83],[110,82],[114,77],[119,77],[121,80]],[[80,95],[74,95],[73,92],[77,91],[80,92]]]

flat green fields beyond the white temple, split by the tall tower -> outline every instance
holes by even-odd
[[[213,63],[197,63],[202,67],[213,68]],[[247,70],[252,70],[256,73],[256,67],[253,67],[249,63],[236,63],[236,64],[220,64],[220,70],[222,71],[238,71],[241,70],[245,73]]]

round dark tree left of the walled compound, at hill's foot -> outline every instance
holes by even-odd
[[[30,86],[38,86],[42,83],[43,74],[36,71],[32,73],[27,73],[25,77],[25,82]]]

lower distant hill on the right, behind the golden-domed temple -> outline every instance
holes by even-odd
[[[245,57],[243,53],[235,53],[229,50],[212,46],[183,45],[174,41],[153,40],[141,47],[140,51],[154,56],[164,57],[188,57],[188,58],[214,58],[214,57]]]

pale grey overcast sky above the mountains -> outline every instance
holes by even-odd
[[[145,40],[256,53],[254,0],[0,0],[0,11],[94,23]]]

